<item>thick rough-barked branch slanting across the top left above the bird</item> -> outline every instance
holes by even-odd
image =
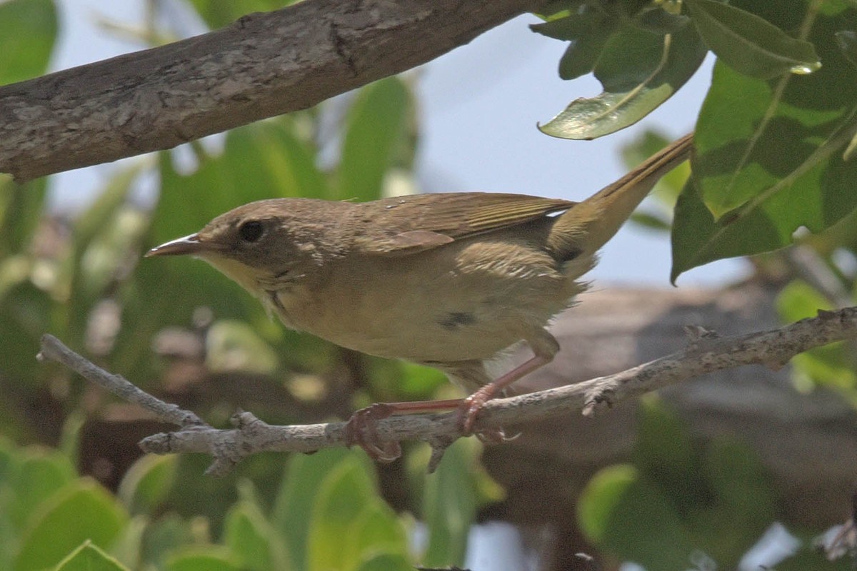
[[[0,172],[27,181],[301,110],[428,62],[534,0],[306,0],[0,86]]]

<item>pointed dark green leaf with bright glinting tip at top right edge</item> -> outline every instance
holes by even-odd
[[[699,35],[717,57],[759,79],[821,67],[809,42],[794,39],[758,15],[716,0],[687,0]]]

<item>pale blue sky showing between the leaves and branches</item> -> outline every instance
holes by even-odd
[[[59,0],[62,36],[52,68],[69,68],[134,51],[95,25],[97,16],[139,24],[142,2]],[[525,15],[482,34],[418,71],[423,139],[418,174],[427,191],[495,191],[584,199],[623,174],[617,149],[645,128],[677,137],[692,129],[710,80],[710,60],[674,98],[632,128],[595,141],[542,134],[569,101],[596,95],[591,77],[559,79],[564,44],[530,32]],[[90,196],[111,165],[61,175],[58,205]],[[668,237],[627,227],[602,249],[590,277],[603,283],[668,287]],[[727,260],[683,275],[680,285],[728,283],[744,265]],[[603,285],[603,284],[602,284]],[[596,284],[596,287],[597,284]]]

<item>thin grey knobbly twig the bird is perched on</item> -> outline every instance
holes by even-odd
[[[721,337],[701,328],[689,333],[691,342],[688,348],[627,371],[556,389],[488,401],[479,415],[477,429],[499,428],[567,413],[592,414],[645,392],[735,366],[780,367],[795,354],[857,337],[857,307],[818,312],[816,318],[740,336]],[[128,393],[128,381],[93,366],[65,348],[56,337],[46,335],[42,338],[40,355],[69,366],[119,396]],[[147,396],[142,404],[158,414],[160,419],[183,425],[183,430],[147,437],[141,442],[141,448],[155,454],[204,452],[213,455],[215,461],[209,473],[218,475],[227,473],[237,461],[256,452],[311,452],[341,446],[345,442],[343,422],[273,426],[250,413],[239,412],[233,417],[235,429],[218,430],[186,420],[195,418],[193,413],[177,411],[176,407],[163,401],[153,405],[153,400],[157,401],[155,397]],[[141,402],[139,399],[133,401]],[[455,413],[383,419],[378,424],[378,435],[382,440],[430,443],[434,455],[429,469],[440,461],[446,446],[460,436]]]

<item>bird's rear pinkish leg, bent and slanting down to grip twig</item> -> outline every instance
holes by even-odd
[[[476,423],[476,416],[485,403],[499,395],[507,386],[529,375],[530,372],[547,365],[554,360],[554,355],[560,350],[559,343],[556,342],[554,336],[550,335],[546,330],[540,330],[540,334],[531,340],[527,340],[530,348],[533,350],[533,356],[524,363],[516,366],[512,371],[506,372],[500,377],[495,378],[488,384],[483,384],[476,392],[461,401],[458,406],[458,423],[461,426],[461,431],[465,436],[473,434],[473,425]],[[486,431],[480,432],[480,439],[488,441],[500,442],[506,440],[503,431]]]

